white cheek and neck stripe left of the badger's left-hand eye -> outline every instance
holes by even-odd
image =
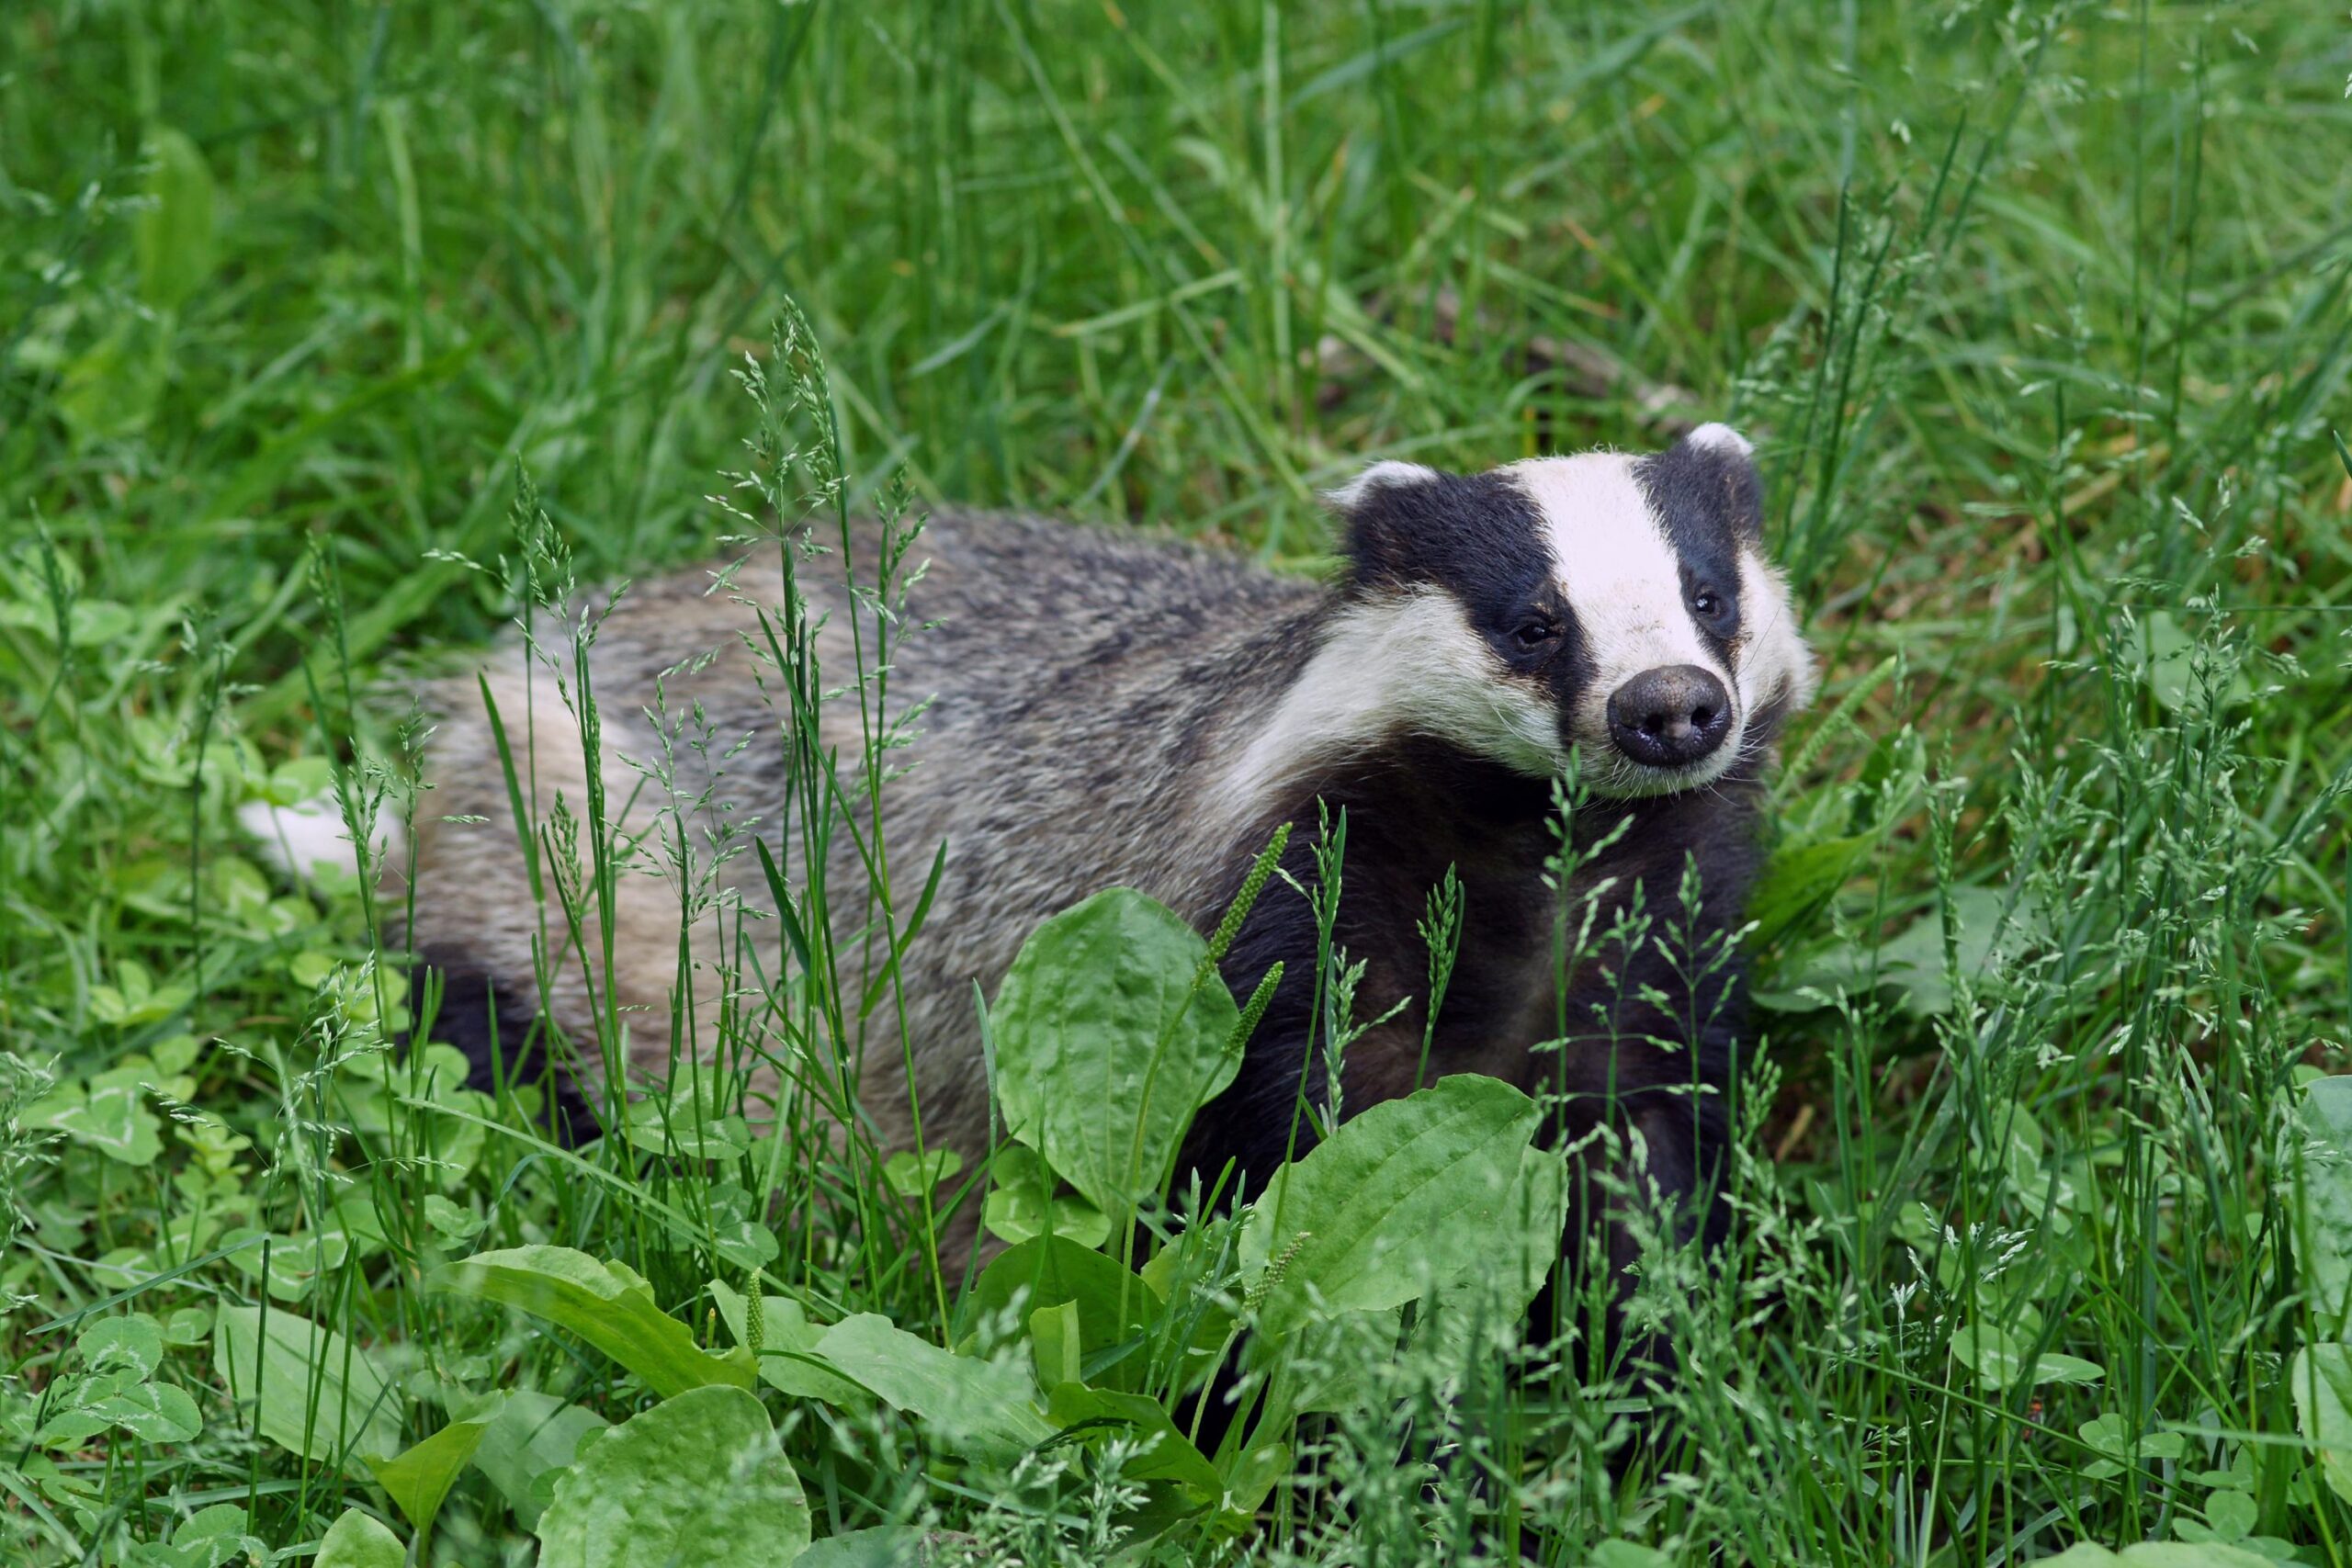
[[[1522,773],[1566,764],[1541,691],[1505,682],[1461,604],[1423,588],[1331,618],[1308,668],[1218,780],[1221,804],[1254,813],[1301,773],[1399,733],[1442,736]]]

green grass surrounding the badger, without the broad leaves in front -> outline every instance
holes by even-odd
[[[861,510],[903,473],[1308,562],[1371,454],[1762,442],[1825,686],[1755,910],[1738,1258],[1649,1291],[1675,1446],[1618,1481],[1569,1380],[1418,1349],[1164,1561],[2352,1563],[2352,1418],[2288,1375],[2340,1366],[2352,1253],[2352,1133],[2298,1105],[2352,1048],[2347,75],[2343,14],[2286,2],[7,7],[0,1552],[402,1521],[252,1436],[240,1305],[365,1345],[405,1441],[492,1389],[649,1403],[423,1288],[477,1246],[619,1258],[729,1342],[708,1168],[405,1105],[379,912],[230,813],[400,773],[367,693],[515,614],[517,468],[583,581],[708,552],[790,294]],[[807,1159],[776,1286],[934,1333],[953,1281],[877,1258],[906,1204]],[[122,1312],[202,1432],[35,1441]],[[1098,1453],[767,1406],[818,1535],[1150,1535]],[[1423,1469],[1432,1425],[1468,1458]],[[532,1549],[466,1472],[433,1561]]]

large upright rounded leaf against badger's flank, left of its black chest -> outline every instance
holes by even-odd
[[[990,1009],[1014,1138],[1103,1213],[1160,1187],[1200,1105],[1240,1070],[1232,992],[1209,945],[1134,889],[1037,926]]]

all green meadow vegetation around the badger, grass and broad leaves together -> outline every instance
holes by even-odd
[[[0,1554],[2352,1563],[2347,80],[2288,2],[7,7]],[[887,654],[790,604],[781,820],[529,844],[590,969],[630,858],[779,912],[593,1143],[426,1044],[416,889],[238,827],[430,816],[405,691],[515,623],[593,729],[574,590],[720,541],[884,512],[882,602],[953,503],[1312,571],[1369,456],[1705,418],[1825,679],[1736,1239],[1632,1302],[1668,1389],[1597,1300],[1522,1333],[1517,1091],[1357,1114],[1251,1215],[1171,1180],[1254,999],[1136,896],[993,999],[995,1159],[873,1147],[842,1065],[938,846],[790,875],[898,757],[821,752]],[[1254,896],[1329,910],[1336,839]]]

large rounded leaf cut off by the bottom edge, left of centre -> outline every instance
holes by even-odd
[[[539,1568],[790,1568],[809,1505],[760,1401],[687,1389],[597,1439],[539,1519]]]

